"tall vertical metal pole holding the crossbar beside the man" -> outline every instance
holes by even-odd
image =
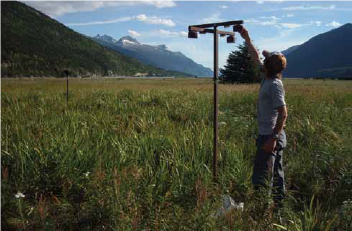
[[[218,72],[219,72],[219,37],[218,28],[214,26],[214,149],[213,149],[213,175],[218,178]]]

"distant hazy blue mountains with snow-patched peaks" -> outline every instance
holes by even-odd
[[[170,51],[165,45],[151,46],[141,44],[131,36],[116,40],[108,35],[97,35],[92,39],[109,49],[135,58],[142,63],[194,76],[213,76],[211,69],[195,63],[181,52]]]

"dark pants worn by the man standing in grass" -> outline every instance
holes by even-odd
[[[282,165],[283,150],[287,145],[286,134],[282,131],[276,140],[276,148],[267,153],[264,150],[265,142],[272,135],[259,135],[257,139],[257,152],[254,160],[252,183],[256,190],[269,188],[275,204],[280,205],[285,196],[285,178]],[[270,187],[267,185],[270,183]]]

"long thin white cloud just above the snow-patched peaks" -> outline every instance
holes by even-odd
[[[128,21],[140,21],[147,24],[155,24],[155,25],[163,25],[173,27],[176,24],[171,19],[163,19],[156,16],[147,16],[145,14],[140,14],[132,17],[122,17],[113,20],[107,21],[94,21],[94,22],[86,22],[86,23],[68,23],[67,26],[91,26],[91,25],[102,25],[102,24],[112,24],[112,23],[120,23],[120,22],[128,22]]]

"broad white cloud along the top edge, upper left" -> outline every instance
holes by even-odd
[[[103,7],[150,5],[157,8],[174,7],[174,0],[19,0],[45,14],[60,16]]]

